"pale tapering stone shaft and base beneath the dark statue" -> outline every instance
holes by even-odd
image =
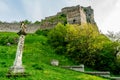
[[[16,57],[13,66],[10,68],[10,73],[24,73],[24,67],[22,66],[22,52],[24,47],[25,35],[20,35]]]

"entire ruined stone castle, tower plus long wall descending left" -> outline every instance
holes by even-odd
[[[65,14],[67,23],[69,24],[84,24],[92,23],[96,24],[94,21],[94,13],[91,7],[81,7],[81,6],[72,6],[65,7],[54,16],[46,17],[43,24],[28,24],[27,33],[34,33],[38,29],[50,29],[53,28],[58,22],[64,23],[61,20],[53,20],[52,22],[49,19],[54,19],[56,16]],[[41,22],[42,22],[41,21]],[[0,32],[18,32],[20,30],[20,23],[0,23]]]

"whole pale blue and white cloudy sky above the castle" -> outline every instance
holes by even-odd
[[[0,0],[0,21],[40,21],[76,5],[92,7],[102,33],[120,32],[120,0]]]

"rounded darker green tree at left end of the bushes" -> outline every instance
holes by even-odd
[[[48,42],[55,48],[58,54],[63,54],[65,51],[65,36],[66,36],[66,27],[58,23],[54,29],[48,33]]]

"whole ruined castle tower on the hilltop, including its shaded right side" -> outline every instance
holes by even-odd
[[[62,13],[66,14],[67,22],[69,24],[95,24],[93,10],[91,7],[81,7],[80,5],[65,7]]]

